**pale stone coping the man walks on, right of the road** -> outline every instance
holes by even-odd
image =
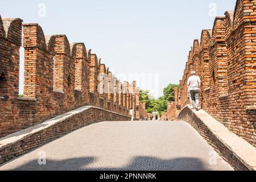
[[[233,155],[241,161],[247,168],[250,170],[256,170],[256,148],[248,143],[242,137],[234,134],[222,123],[218,122],[211,115],[209,115],[204,110],[192,110],[190,105],[187,105],[191,111],[198,117],[205,126],[208,127],[210,131],[218,138],[230,151],[233,152]],[[183,109],[185,109],[185,107]]]

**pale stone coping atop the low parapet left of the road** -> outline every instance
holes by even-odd
[[[125,116],[127,118],[130,118],[127,115],[115,113],[114,111],[102,109],[100,107],[96,107],[96,106],[83,106],[83,107],[80,107],[78,109],[69,111],[69,112],[67,112],[65,114],[58,115],[57,117],[49,119],[49,120],[47,120],[47,121],[45,121],[43,123],[40,123],[38,125],[35,125],[35,126],[32,126],[32,127],[28,127],[27,129],[20,130],[20,131],[18,131],[16,133],[13,133],[13,134],[7,135],[6,137],[1,138],[0,139],[0,150],[3,150],[4,148],[11,146],[11,144],[14,144],[16,142],[19,142],[20,140],[23,140],[23,139],[25,139],[27,137],[30,137],[31,135],[33,135],[35,133],[39,133],[42,130],[46,130],[49,127],[57,125],[58,123],[63,122],[66,119],[71,118],[74,115],[80,114],[80,113],[82,113],[82,112],[84,112],[86,110],[89,110],[91,108],[105,110],[105,111],[108,111],[109,113],[114,113],[114,114],[118,114],[118,115],[122,115],[122,116]]]

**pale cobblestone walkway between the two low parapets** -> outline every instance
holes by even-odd
[[[46,164],[40,157],[46,155]],[[185,122],[101,122],[0,170],[233,170]]]

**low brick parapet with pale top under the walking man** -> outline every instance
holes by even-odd
[[[199,134],[237,171],[255,171],[255,147],[230,132],[205,111],[185,106],[178,119],[192,125]],[[248,154],[251,154],[249,157]]]

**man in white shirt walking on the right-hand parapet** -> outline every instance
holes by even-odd
[[[193,109],[200,110],[199,107],[199,90],[200,90],[201,80],[199,76],[196,76],[196,72],[191,72],[191,77],[188,78],[188,94]]]

